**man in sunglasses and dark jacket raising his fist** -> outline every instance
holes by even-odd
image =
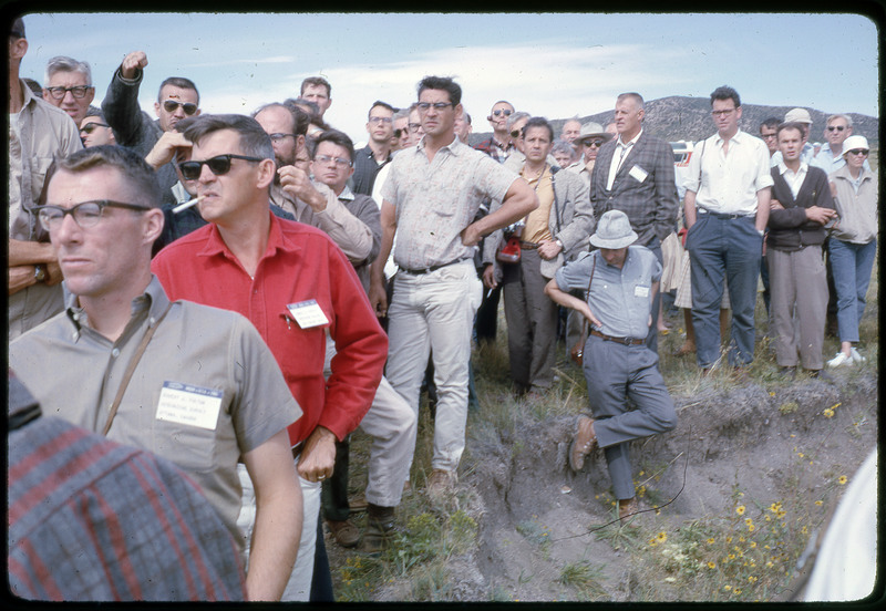
[[[159,137],[188,116],[200,114],[200,96],[197,86],[188,79],[172,76],[159,85],[157,101],[154,103],[154,120],[138,105],[138,89],[144,79],[147,55],[144,51],[128,53],[114,71],[107,93],[102,102],[106,123],[114,130],[117,144],[132,148],[142,157],[147,157]],[[157,167],[157,180],[163,191],[164,206],[175,206],[172,194],[178,182],[172,163]]]

